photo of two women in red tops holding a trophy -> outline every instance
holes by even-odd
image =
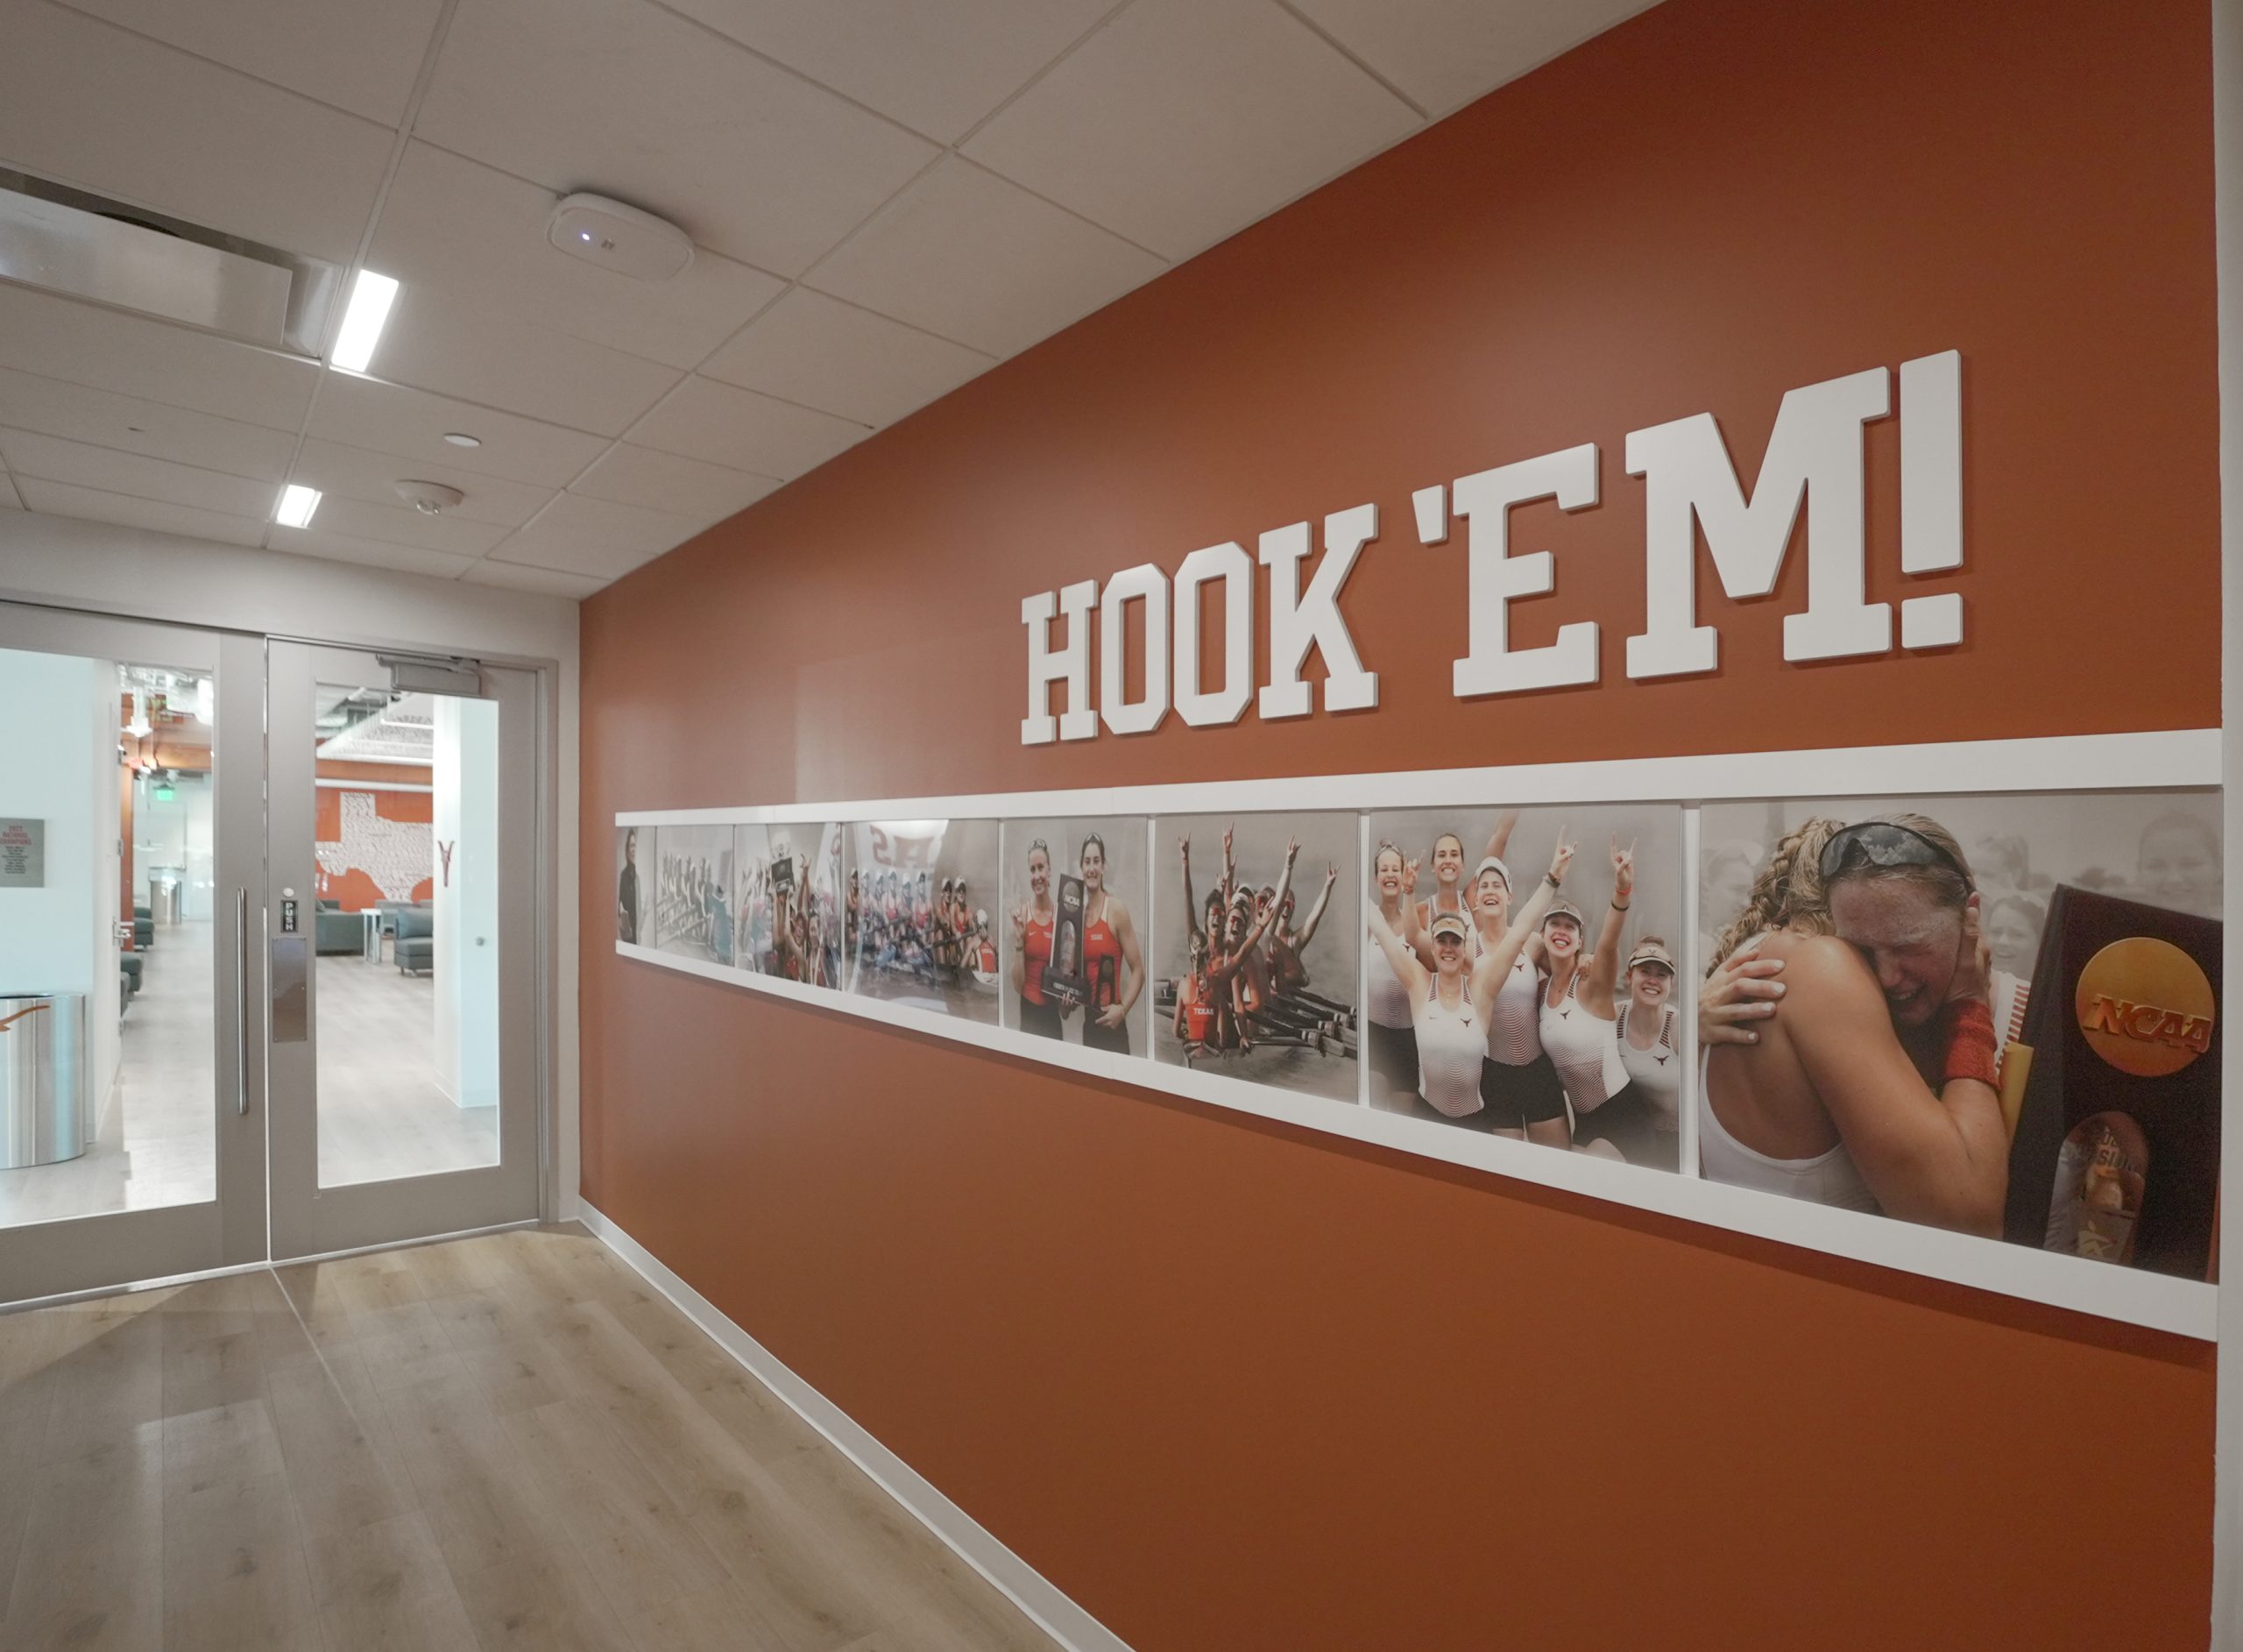
[[[1144,871],[1144,815],[1005,822],[1005,1026],[1146,1048]]]

